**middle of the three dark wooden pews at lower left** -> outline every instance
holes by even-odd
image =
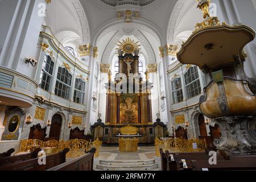
[[[25,160],[23,162],[9,164],[0,167],[0,171],[46,171],[49,168],[66,162],[66,154],[69,151],[65,148],[57,154],[47,155],[46,164],[39,164],[39,158]]]

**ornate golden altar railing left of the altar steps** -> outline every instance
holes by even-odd
[[[84,151],[88,152],[91,148],[96,148],[94,157],[97,158],[99,155],[100,140],[97,138],[94,142],[88,142],[86,140],[72,139],[68,141],[64,140],[48,140],[43,142],[37,139],[25,139],[20,140],[19,152],[34,151],[36,148],[55,148],[55,152],[69,148],[67,158],[76,158],[84,155]]]

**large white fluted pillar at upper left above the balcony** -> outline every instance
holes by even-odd
[[[42,11],[40,3],[43,3],[45,10],[44,0],[18,0],[0,57],[3,66],[30,77],[33,77],[35,70],[30,64],[25,64],[24,60],[29,56],[36,57],[43,22],[43,16],[38,14]],[[5,9],[8,8],[5,6]]]

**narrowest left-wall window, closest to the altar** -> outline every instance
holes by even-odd
[[[81,78],[76,78],[73,101],[79,104],[84,104],[84,94],[85,81],[83,81]]]

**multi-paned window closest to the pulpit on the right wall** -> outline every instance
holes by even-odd
[[[197,67],[191,67],[185,73],[185,88],[188,99],[198,96],[201,93],[201,85]]]

